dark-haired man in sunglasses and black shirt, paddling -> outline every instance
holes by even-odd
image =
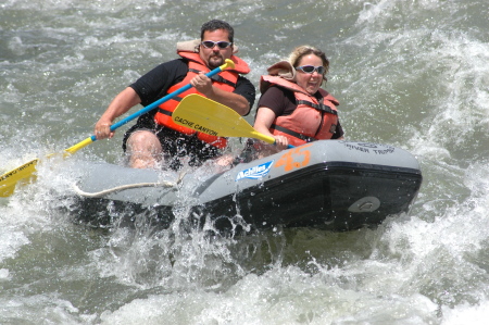
[[[130,108],[148,105],[185,85],[192,88],[162,103],[158,110],[141,115],[136,125],[124,135],[123,149],[129,166],[158,167],[162,163],[173,170],[181,167],[181,159],[198,166],[203,161],[220,157],[227,145],[225,138],[197,133],[172,121],[172,112],[187,95],[200,93],[225,104],[240,115],[248,115],[254,102],[255,89],[243,74],[248,64],[236,57],[234,29],[223,21],[213,20],[202,25],[200,40],[177,43],[181,57],[163,63],[118,93],[95,126],[97,139],[112,138],[113,121]],[[235,68],[225,70],[209,78],[205,73],[224,64],[226,59]]]

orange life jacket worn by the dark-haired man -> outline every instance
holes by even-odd
[[[179,82],[168,88],[167,93],[171,93],[171,92],[184,87],[185,85],[188,85],[190,83],[190,80],[199,74],[199,72],[203,72],[203,73],[210,72],[210,68],[202,61],[199,53],[187,52],[187,51],[177,51],[177,53],[181,58],[188,60],[189,70],[188,70],[186,77],[181,82]],[[229,91],[229,92],[234,91],[236,88],[236,83],[238,80],[238,74],[247,74],[250,72],[250,67],[248,66],[248,64],[244,61],[242,61],[241,59],[239,59],[238,57],[231,55],[230,60],[233,60],[233,62],[235,62],[234,70],[224,70],[223,72],[218,73],[217,75],[214,75],[213,77],[211,77],[211,79],[213,80],[213,84],[212,84],[213,86],[215,86],[220,89]],[[211,135],[208,135],[204,133],[196,132],[192,128],[189,128],[186,126],[180,126],[172,121],[172,114],[175,111],[178,103],[180,102],[180,100],[190,93],[202,95],[202,93],[198,92],[196,90],[196,88],[192,87],[192,88],[188,89],[187,91],[184,91],[179,96],[176,96],[176,97],[167,100],[166,102],[159,105],[158,112],[156,112],[156,114],[154,114],[154,121],[160,125],[170,127],[170,128],[177,130],[179,133],[183,133],[185,135],[193,135],[197,133],[197,137],[200,140],[205,141],[205,142],[208,142],[214,147],[221,148],[221,149],[225,148],[227,146],[226,138],[211,136]]]

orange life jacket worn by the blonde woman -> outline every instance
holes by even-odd
[[[305,142],[330,139],[338,125],[338,113],[336,105],[338,100],[329,92],[319,88],[323,99],[321,102],[297,84],[278,76],[264,75],[260,84],[276,85],[292,90],[296,97],[297,109],[287,116],[277,116],[269,132],[288,138],[292,146]],[[263,91],[262,91],[263,92]]]

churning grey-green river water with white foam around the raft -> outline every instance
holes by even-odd
[[[71,164],[118,163],[122,127],[0,199],[0,324],[487,324],[488,16],[487,0],[1,0],[2,173],[90,136],[216,17],[255,86],[294,46],[325,50],[346,137],[409,150],[424,183],[409,216],[342,234],[73,224]]]

